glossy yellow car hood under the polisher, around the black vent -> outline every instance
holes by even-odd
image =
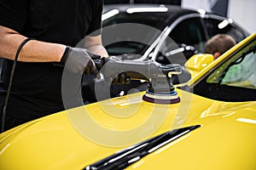
[[[108,99],[0,134],[0,169],[83,169],[171,129],[201,125],[128,169],[253,169],[256,102],[230,103],[177,89],[173,105],[143,93]]]

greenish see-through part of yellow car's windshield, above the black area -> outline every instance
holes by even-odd
[[[228,59],[207,79],[209,83],[256,89],[256,40]]]

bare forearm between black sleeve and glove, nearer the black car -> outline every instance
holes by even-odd
[[[108,57],[108,52],[106,48],[102,46],[102,36],[85,37],[85,46],[84,48],[88,49],[93,54],[101,55],[102,57]]]

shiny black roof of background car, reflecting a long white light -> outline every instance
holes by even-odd
[[[177,5],[160,4],[110,4],[104,6],[103,14],[107,14],[112,10],[118,10],[118,22],[146,24],[159,30],[163,30],[183,15],[200,15],[196,10],[181,8]],[[117,19],[115,18],[114,20],[116,21]]]

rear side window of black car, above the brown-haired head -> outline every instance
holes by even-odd
[[[247,37],[244,31],[241,31],[235,25],[231,25],[228,20],[204,19],[208,36],[212,37],[216,34],[228,34],[233,37],[236,42],[241,42]]]

